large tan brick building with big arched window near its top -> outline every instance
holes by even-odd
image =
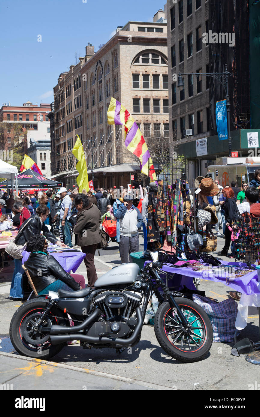
[[[77,134],[86,151],[89,179],[93,168],[94,186],[126,185],[130,174],[139,170],[124,145],[120,126],[107,124],[111,96],[133,115],[144,137],[169,136],[167,23],[163,10],[152,23],[130,21],[118,27],[96,53],[88,43],[85,57],[59,76],[54,87],[54,112],[49,114],[53,126],[52,175],[69,188],[78,175],[71,152]]]

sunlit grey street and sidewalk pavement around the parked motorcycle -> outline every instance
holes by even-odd
[[[140,233],[139,250],[143,249],[142,241],[143,237]],[[217,252],[223,246],[224,239],[218,236]],[[214,253],[215,256],[230,261],[228,258],[217,255],[217,252]],[[106,250],[100,251],[100,255],[99,257],[96,252],[95,265],[98,276],[121,263],[116,243],[110,243]],[[13,268],[12,264],[10,276],[11,268]],[[77,272],[86,278],[84,264],[81,264]],[[233,343],[213,343],[208,356],[202,362],[183,364],[164,353],[151,325],[143,327],[141,340],[135,347],[126,348],[121,354],[117,354],[115,349],[89,350],[83,349],[79,344],[70,345],[64,347],[51,359],[54,365],[41,361],[41,369],[38,372],[37,361],[20,359],[10,343],[10,320],[21,303],[8,299],[9,289],[10,282],[0,277],[0,339],[2,339],[0,355],[1,352],[13,354],[13,357],[12,355],[0,356],[0,383],[6,383],[13,378],[13,389],[19,389],[20,384],[23,389],[25,387],[38,389],[41,383],[44,387],[49,387],[46,389],[53,389],[51,387],[57,382],[61,383],[61,375],[66,381],[66,378],[70,378],[69,386],[66,387],[66,384],[62,382],[61,389],[64,386],[63,389],[93,389],[93,387],[97,389],[164,389],[165,387],[188,390],[248,390],[252,386],[250,384],[255,384],[255,381],[259,380],[257,365],[246,362],[245,355],[240,357],[231,355]],[[201,280],[199,289],[204,290],[206,296],[211,296],[221,302],[227,299],[228,291],[232,290],[232,286]],[[259,340],[258,316],[248,317],[247,327],[242,330],[239,338],[242,337]],[[61,368],[58,364],[62,365]],[[69,366],[69,368],[63,366]],[[86,388],[81,388],[81,386]]]

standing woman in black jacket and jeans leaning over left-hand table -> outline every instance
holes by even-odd
[[[36,208],[36,214],[31,216],[29,219],[25,220],[21,226],[25,226],[21,233],[18,233],[15,243],[17,245],[25,245],[26,242],[30,239],[31,236],[35,234],[40,234],[40,231],[43,231],[44,236],[51,243],[55,243],[59,246],[66,246],[48,230],[45,226],[44,221],[47,219],[49,214],[49,209],[47,206],[40,205]],[[13,301],[18,301],[23,299],[23,268],[22,268],[22,259],[14,259],[15,261],[15,270],[13,272],[13,279],[10,289],[10,297],[13,297]]]

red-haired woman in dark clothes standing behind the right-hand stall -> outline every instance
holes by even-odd
[[[237,199],[235,198],[234,191],[231,187],[225,187],[222,190],[223,196],[226,198],[224,203],[225,219],[227,221],[226,226],[231,226],[232,219],[237,219],[239,211],[237,208]],[[231,242],[231,231],[226,227],[225,229],[225,246],[220,252],[220,255],[227,256],[227,252]]]

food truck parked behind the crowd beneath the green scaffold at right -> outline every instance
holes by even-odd
[[[207,176],[213,181],[217,179],[222,187],[230,186],[231,181],[235,181],[237,187],[242,187],[246,182],[248,186],[250,181],[255,178],[255,170],[260,169],[260,157],[248,158],[217,158],[216,165],[209,165]]]

